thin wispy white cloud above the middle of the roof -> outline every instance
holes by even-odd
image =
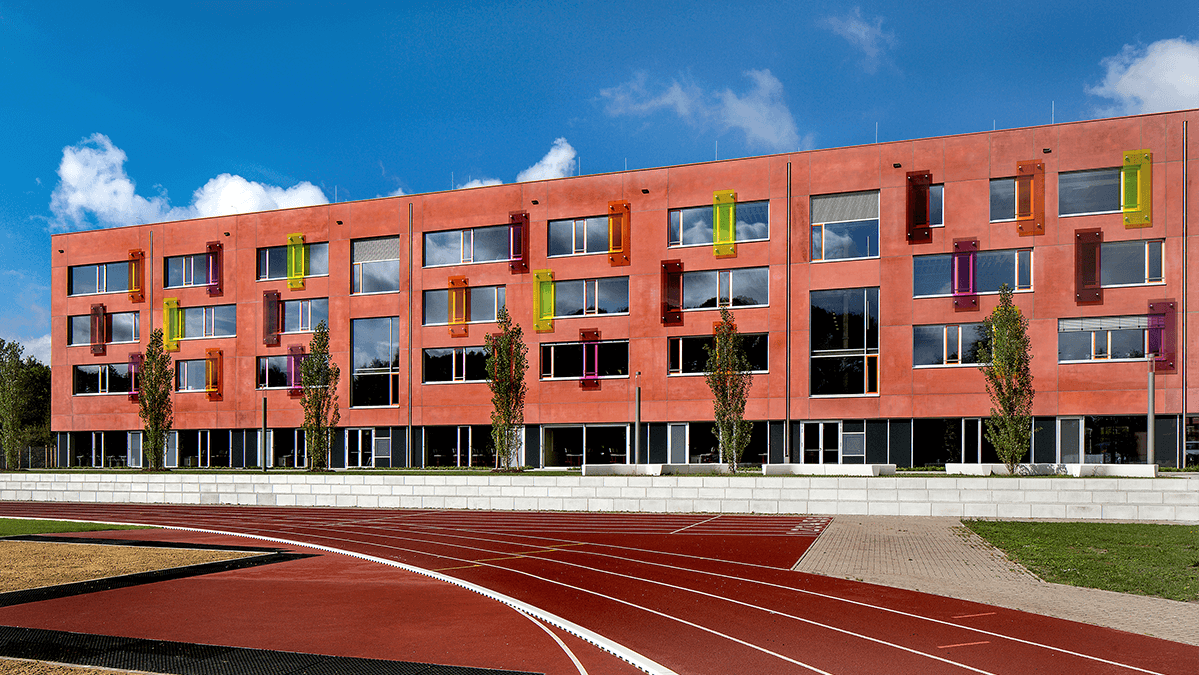
[[[769,70],[746,71],[753,86],[736,94],[731,89],[705,92],[691,82],[671,80],[661,94],[652,95],[645,85],[645,73],[619,86],[600,91],[607,100],[604,110],[613,116],[645,116],[669,110],[697,128],[737,129],[746,141],[769,150],[811,147],[813,138],[800,138],[795,117],[787,106],[783,83]]]

